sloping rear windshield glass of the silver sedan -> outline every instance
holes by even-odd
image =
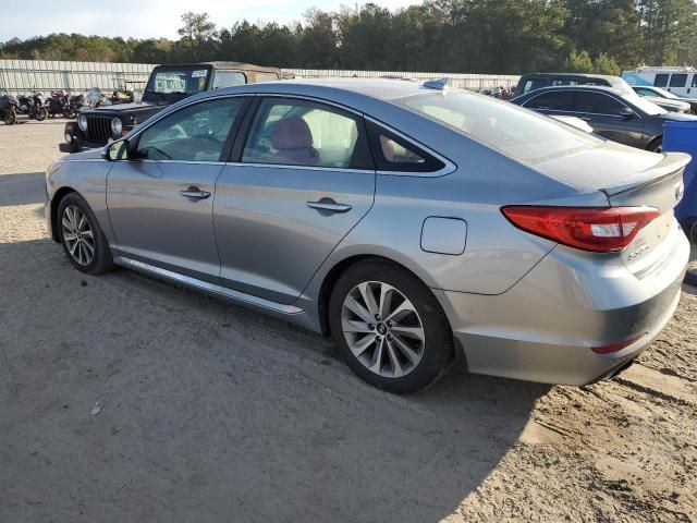
[[[528,163],[602,143],[551,118],[463,90],[435,92],[394,101]]]

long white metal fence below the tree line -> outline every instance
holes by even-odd
[[[47,95],[53,89],[82,93],[90,87],[103,92],[127,87],[135,92],[145,88],[151,63],[61,62],[48,60],[0,60],[0,90],[24,94],[38,90]],[[449,77],[451,85],[467,89],[487,89],[514,86],[518,76],[458,74],[458,73],[404,73],[398,71],[333,71],[286,69],[302,77],[403,77],[431,80]]]

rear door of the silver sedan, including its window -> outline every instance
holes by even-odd
[[[255,105],[216,184],[220,278],[290,304],[372,206],[376,172],[360,114],[299,98]]]

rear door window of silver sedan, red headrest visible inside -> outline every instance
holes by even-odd
[[[307,167],[368,168],[359,120],[305,100],[265,99],[242,161]]]

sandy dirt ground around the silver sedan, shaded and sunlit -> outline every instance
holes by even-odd
[[[614,381],[393,397],[314,333],[72,269],[62,125],[0,125],[0,522],[697,521],[695,288]]]

